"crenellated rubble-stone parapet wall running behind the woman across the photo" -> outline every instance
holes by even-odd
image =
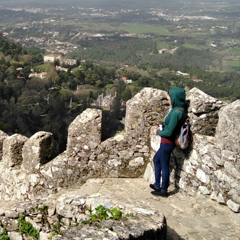
[[[171,182],[189,194],[210,195],[239,212],[240,101],[226,105],[196,88],[189,91],[188,99],[193,144],[184,152],[174,150]],[[151,161],[160,139],[150,134],[151,127],[163,122],[168,108],[164,91],[144,88],[127,102],[124,131],[103,142],[102,112],[86,109],[69,126],[66,151],[52,160],[47,132],[19,141],[22,151],[16,159],[13,149],[3,148],[0,198],[33,200],[92,177],[152,180]],[[12,138],[0,132],[3,146],[13,144]]]

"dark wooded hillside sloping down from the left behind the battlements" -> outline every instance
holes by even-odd
[[[120,76],[116,76],[114,68],[86,61],[81,67],[69,66],[64,72],[56,70],[57,64],[44,64],[41,50],[24,49],[0,38],[0,130],[28,137],[40,130],[52,132],[56,154],[66,147],[68,125],[91,107],[98,94],[118,92],[113,109],[104,114],[111,122],[103,134],[107,138],[121,125],[124,111],[120,110],[120,101],[128,100],[132,91],[135,94],[139,90],[128,89],[118,80]],[[46,78],[29,77],[31,72],[41,71],[47,71]]]

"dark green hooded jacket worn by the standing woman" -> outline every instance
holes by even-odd
[[[172,109],[165,117],[163,130],[158,130],[157,134],[174,142],[175,135],[180,130],[186,119],[186,93],[183,88],[171,88],[169,90]]]

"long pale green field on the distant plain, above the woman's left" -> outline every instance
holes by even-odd
[[[166,28],[160,26],[153,26],[148,24],[130,24],[122,25],[121,30],[135,33],[135,34],[155,34],[155,35],[168,35],[169,31]]]

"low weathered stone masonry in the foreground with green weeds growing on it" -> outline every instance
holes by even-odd
[[[94,183],[95,181],[95,183]],[[94,184],[101,184],[100,179],[92,179]],[[80,189],[63,191],[61,194],[51,195],[48,199],[36,199],[34,202],[12,204],[12,216],[0,216],[0,223],[13,239],[26,239],[18,231],[18,218],[24,212],[25,221],[38,232],[40,239],[166,239],[167,224],[164,215],[148,206],[144,201],[138,204],[132,199],[116,203],[109,195],[82,194]],[[119,220],[111,219],[96,223],[91,222],[90,209],[96,214],[96,208],[118,209],[123,214]],[[54,211],[51,211],[54,209]],[[128,215],[127,215],[128,214]],[[12,219],[14,216],[14,219]],[[61,217],[59,217],[61,216]],[[58,226],[58,227],[57,227]],[[61,235],[60,235],[61,233]],[[55,235],[55,236],[54,236]]]

